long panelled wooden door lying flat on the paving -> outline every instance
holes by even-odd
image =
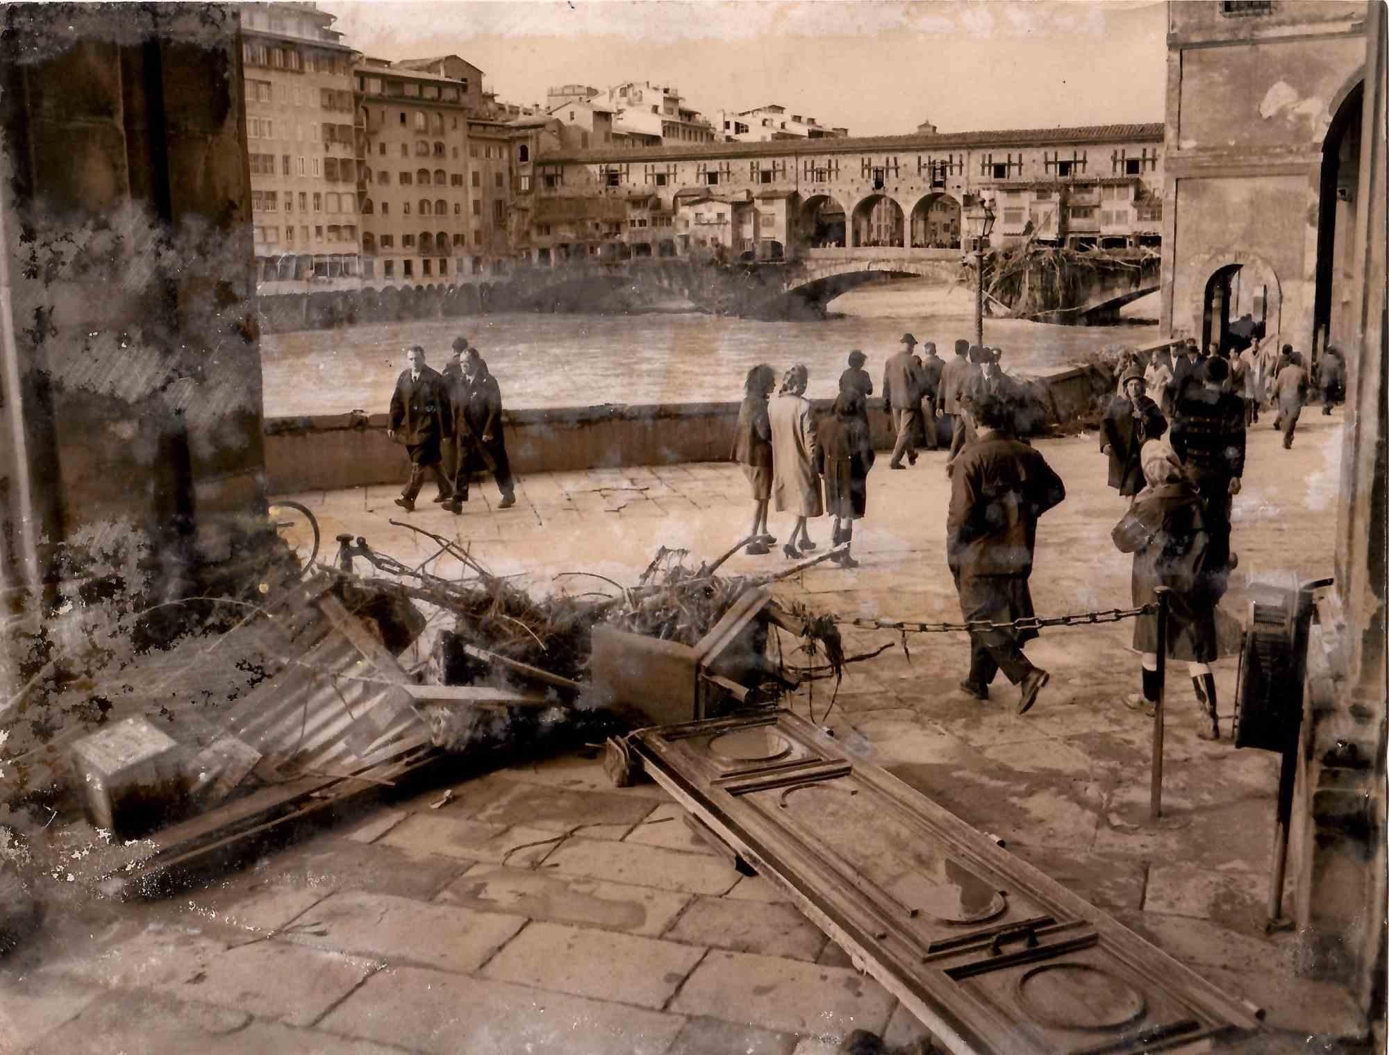
[[[647,729],[647,773],[965,1052],[1120,1055],[1260,1012],[786,711]]]

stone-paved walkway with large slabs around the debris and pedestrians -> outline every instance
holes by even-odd
[[[1231,612],[1242,614],[1249,576],[1328,573],[1340,416],[1304,421],[1290,453],[1268,429],[1250,437]],[[1039,450],[1070,497],[1039,532],[1038,611],[1126,607],[1128,561],[1108,541],[1124,503],[1103,487],[1097,441]],[[815,568],[779,589],[845,616],[958,618],[942,458],[872,475],[860,569]],[[464,515],[426,503],[411,522],[456,533],[535,589],[581,591],[611,587],[553,576],[632,582],[660,544],[714,557],[749,515],[728,465],[533,476],[519,494],[517,508],[494,511],[488,483]],[[344,530],[422,561],[432,544],[388,523],[404,519],[393,496],[296,497],[329,546]],[[774,532],[786,528],[774,516]],[[813,530],[828,541],[826,525]],[[743,555],[726,565],[781,566]],[[1197,740],[1181,669],[1170,682],[1170,820],[1146,823],[1150,727],[1120,705],[1136,687],[1129,633],[1126,623],[1045,632],[1028,651],[1053,682],[1021,718],[1003,683],[986,704],[963,697],[967,651],[953,634],[915,637],[910,659],[897,648],[853,669],[828,718],[824,684],[793,705],[1265,1006],[1272,1031],[1246,1051],[1354,1034],[1339,988],[1293,974],[1293,937],[1263,934],[1276,759]],[[851,651],[883,640],[849,634]],[[1233,661],[1221,662],[1225,715],[1233,680]],[[50,919],[42,941],[0,968],[0,1052],[825,1055],[856,1027],[893,1043],[920,1036],[776,890],[693,840],[653,784],[614,790],[596,758],[575,754],[465,780],[454,794],[438,809],[438,791],[388,802],[183,897]]]

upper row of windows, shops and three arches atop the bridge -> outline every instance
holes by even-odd
[[[1149,124],[561,151],[542,158],[536,193],[622,208],[656,194],[682,254],[960,248],[963,210],[979,197],[999,217],[995,244],[1132,248],[1161,240],[1163,146],[1163,125]],[[703,221],[690,212],[697,194],[726,205],[726,230],[710,208]],[[536,203],[536,215],[551,210],[575,207]],[[622,240],[649,240],[636,230],[624,226]]]

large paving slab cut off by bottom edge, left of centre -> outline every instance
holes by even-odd
[[[371,977],[321,1023],[428,1055],[664,1055],[678,1015],[424,968]]]

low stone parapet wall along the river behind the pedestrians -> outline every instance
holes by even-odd
[[[1074,430],[1093,421],[1113,391],[1113,376],[1086,365],[1047,378],[1018,378],[1020,425],[1029,434]],[[604,404],[503,412],[507,454],[518,473],[726,461],[738,403]],[[828,414],[829,400],[815,410]],[[874,447],[890,450],[892,422],[870,400]],[[333,414],[265,421],[265,472],[272,494],[400,483],[406,450],[386,436],[386,414]],[[938,421],[938,439],[950,432]]]

